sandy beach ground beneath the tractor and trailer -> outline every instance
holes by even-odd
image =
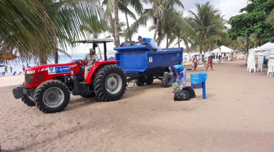
[[[187,71],[187,85],[205,69]],[[195,89],[195,98],[174,102],[172,88],[156,80],[115,102],[71,95],[67,108],[52,114],[13,97],[23,75],[0,77],[2,152],[274,151],[274,78],[265,65],[249,73],[245,60],[235,60],[213,70],[206,71],[206,100]]]

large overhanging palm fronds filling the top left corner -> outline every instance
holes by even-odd
[[[104,20],[97,0],[28,0],[0,2],[0,50],[15,52],[22,60],[31,58],[46,64],[54,50],[66,50],[73,41],[86,37],[80,25],[92,24],[90,16]],[[11,15],[12,14],[12,15]],[[58,44],[61,49],[58,49]]]

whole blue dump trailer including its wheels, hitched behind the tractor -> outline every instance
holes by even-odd
[[[165,48],[155,52],[149,45],[114,47],[118,51],[115,59],[117,66],[125,73],[127,81],[135,80],[136,85],[152,84],[154,79],[162,81],[163,87],[171,86],[170,65],[182,64],[183,48]]]

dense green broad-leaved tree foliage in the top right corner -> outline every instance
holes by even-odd
[[[266,18],[274,7],[274,1],[252,0],[251,2],[240,10],[240,12],[246,11],[245,13],[230,18],[228,23],[231,25],[231,29],[229,29],[228,35],[232,39],[236,39],[238,36],[257,33],[263,43],[274,42],[274,23],[266,22]]]

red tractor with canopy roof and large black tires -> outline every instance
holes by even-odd
[[[115,65],[116,60],[107,60],[106,43],[112,39],[92,39],[76,43],[104,44],[104,59],[93,64],[86,82],[83,63],[79,60],[63,64],[44,64],[25,70],[25,82],[13,88],[13,96],[29,106],[44,112],[61,112],[70,100],[70,94],[82,97],[97,96],[102,101],[115,101],[123,96],[126,90],[125,72]]]

